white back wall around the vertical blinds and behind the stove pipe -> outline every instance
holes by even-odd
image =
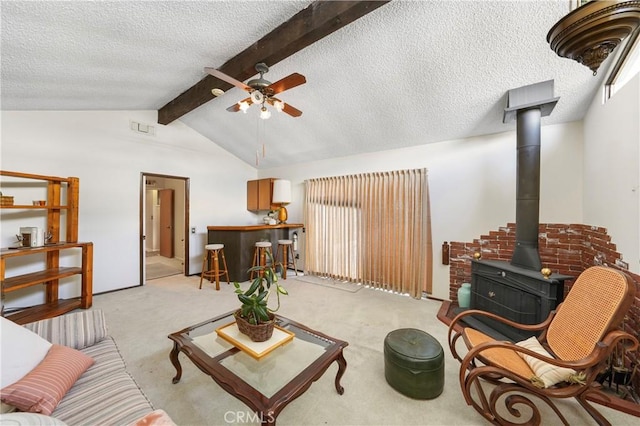
[[[582,222],[582,123],[541,131],[540,221]],[[429,170],[434,248],[433,296],[449,298],[449,267],[440,263],[443,241],[471,241],[515,221],[514,131],[413,148],[261,170],[260,177],[290,179],[290,223],[302,223],[304,180],[383,170]]]

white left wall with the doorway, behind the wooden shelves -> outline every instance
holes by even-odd
[[[1,117],[3,170],[80,178],[79,239],[94,243],[96,293],[139,284],[142,172],[190,178],[189,225],[197,230],[189,240],[190,273],[200,272],[207,225],[257,220],[245,197],[256,170],[179,121],[155,124],[155,111],[2,111]],[[131,131],[129,120],[155,124],[156,136]],[[6,195],[22,204],[18,190]],[[6,212],[2,247],[12,245],[18,228],[31,226],[25,224],[33,217]],[[77,288],[61,289],[61,297],[75,295]]]

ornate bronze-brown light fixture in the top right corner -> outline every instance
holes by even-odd
[[[640,0],[588,1],[560,19],[547,34],[551,49],[596,75],[622,41],[640,31]]]

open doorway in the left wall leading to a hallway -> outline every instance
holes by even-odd
[[[140,285],[189,275],[189,178],[141,173]]]

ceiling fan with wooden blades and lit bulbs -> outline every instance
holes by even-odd
[[[245,84],[233,77],[224,74],[221,71],[218,71],[215,68],[206,67],[204,70],[212,76],[219,78],[220,80],[224,80],[227,83],[231,83],[234,86],[249,92],[248,98],[231,105],[229,108],[227,108],[227,111],[246,112],[252,104],[259,104],[261,105],[260,118],[267,119],[271,117],[271,112],[267,109],[265,104],[269,104],[276,110],[285,112],[292,117],[300,117],[302,115],[302,111],[294,108],[287,103],[282,102],[280,99],[275,97],[275,95],[282,93],[285,90],[292,89],[296,86],[300,86],[301,84],[306,83],[307,79],[302,74],[293,73],[281,80],[276,81],[275,83],[271,83],[270,81],[264,79],[264,74],[269,72],[269,67],[265,63],[260,62],[259,64],[256,64],[256,71],[260,73],[260,77],[249,80]],[[212,90],[214,94],[216,94],[215,90],[216,89]]]

